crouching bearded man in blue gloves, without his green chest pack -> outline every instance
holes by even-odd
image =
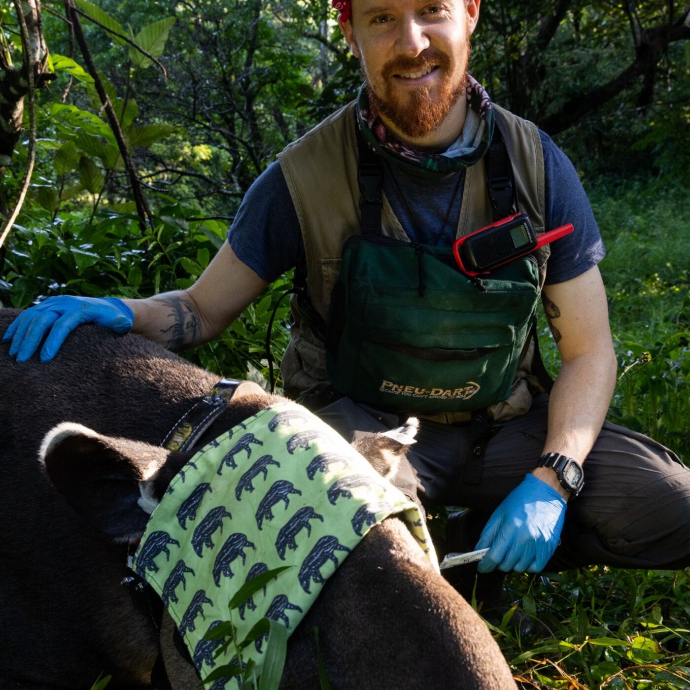
[[[480,0],[333,4],[366,87],[357,103],[288,146],[257,179],[228,243],[197,283],[124,302],[47,299],[4,335],[12,339],[10,355],[28,359],[50,331],[41,348],[41,359],[50,359],[83,322],[131,329],[172,350],[195,346],[219,335],[268,283],[297,266],[306,299],[293,299],[295,324],[282,362],[286,392],[346,437],[393,428],[404,416],[400,408],[355,403],[333,391],[317,328],[328,317],[342,245],[360,232],[362,141],[383,168],[381,233],[448,246],[495,219],[484,157],[500,132],[519,210],[538,230],[575,226],[553,243],[548,262],[546,252],[538,259],[560,373],[545,395],[531,347],[523,351],[526,342],[518,343],[521,368],[506,399],[489,406],[491,422],[475,410],[420,415],[410,464],[396,483],[426,505],[473,509],[450,525],[449,546],[488,548],[482,573],[538,572],[548,562],[550,569],[687,566],[690,471],[653,440],[604,422],[616,372],[597,267],[604,248],[575,170],[543,132],[493,106],[466,72]],[[420,277],[420,294],[421,285]]]

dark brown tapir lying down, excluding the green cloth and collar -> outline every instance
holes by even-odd
[[[0,333],[16,316],[0,310]],[[46,364],[17,363],[8,348],[0,346],[0,689],[88,690],[104,675],[112,690],[165,687],[154,671],[161,658],[173,689],[200,687],[170,627],[122,583],[149,517],[140,483],[160,500],[195,453],[161,442],[217,377],[98,326],[77,329]],[[197,448],[276,400],[253,384],[239,395],[243,386]],[[334,690],[516,687],[489,629],[397,517],[366,533],[323,586],[290,636],[281,689],[320,688],[318,658]]]

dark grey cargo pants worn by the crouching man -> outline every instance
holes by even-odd
[[[393,484],[424,507],[473,509],[479,536],[493,510],[535,468],[546,440],[548,397],[497,425],[476,484],[464,481],[472,462],[469,424],[420,420]],[[395,428],[395,413],[341,398],[317,412],[348,441],[362,433]],[[471,548],[471,547],[470,547]],[[571,497],[561,542],[546,571],[601,564],[619,568],[680,569],[690,566],[690,469],[651,438],[604,422],[584,463],[584,488]]]

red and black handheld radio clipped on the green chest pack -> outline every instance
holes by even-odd
[[[573,226],[569,223],[537,235],[530,219],[524,213],[515,213],[456,239],[453,255],[462,273],[475,276],[519,259],[572,232]]]

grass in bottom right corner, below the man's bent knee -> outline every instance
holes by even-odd
[[[533,631],[493,632],[524,688],[690,687],[687,571],[593,566],[559,575],[509,576]]]

